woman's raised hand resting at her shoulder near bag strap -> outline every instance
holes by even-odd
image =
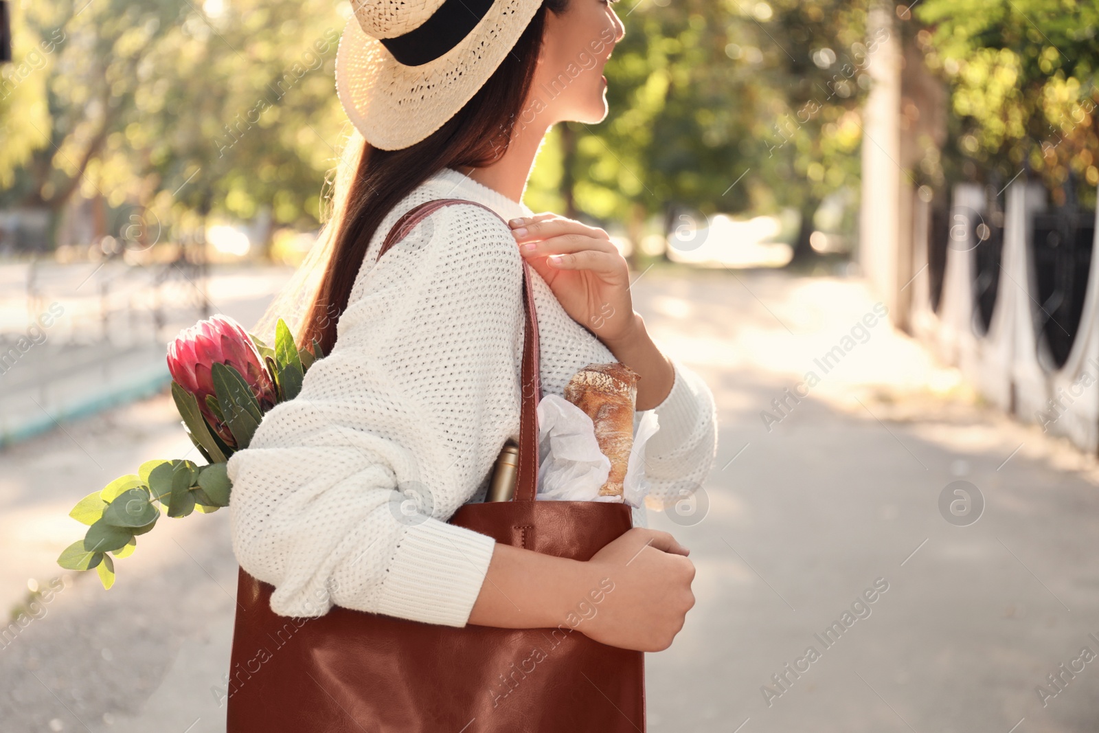
[[[607,232],[555,213],[509,224],[523,259],[574,321],[612,351],[635,335],[640,323],[630,298],[630,269]]]

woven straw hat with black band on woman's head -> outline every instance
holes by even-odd
[[[375,147],[419,143],[477,93],[543,0],[352,0],[336,93]]]

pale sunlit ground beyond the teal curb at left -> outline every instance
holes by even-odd
[[[214,266],[208,285],[211,313],[232,315],[251,327],[268,293],[289,275],[285,267]],[[0,448],[165,388],[171,381],[165,360],[168,341],[202,318],[188,302],[197,297],[197,287],[182,274],[178,286],[187,299],[167,307],[162,293],[152,290],[155,271],[120,263],[41,266],[35,307],[22,287],[26,277],[25,264],[0,265],[4,287],[0,298]],[[103,292],[100,281],[114,282],[115,290],[97,295]],[[107,323],[104,302],[111,313]],[[153,325],[154,307],[164,309],[159,332]],[[32,332],[27,324],[37,321],[41,325],[43,316],[48,316],[47,327]]]

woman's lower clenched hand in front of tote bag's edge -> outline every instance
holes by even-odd
[[[695,606],[695,564],[667,532],[634,527],[588,560],[592,578],[609,578],[613,590],[591,619],[577,626],[610,646],[660,652],[682,629]]]

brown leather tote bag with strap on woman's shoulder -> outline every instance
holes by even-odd
[[[423,216],[454,203],[481,206],[420,204],[398,220],[378,256]],[[515,497],[465,504],[449,521],[499,543],[587,560],[630,529],[630,508],[535,501],[542,387],[525,262]],[[322,617],[291,619],[270,610],[273,590],[241,569],[227,733],[645,731],[644,655],[592,641],[575,618],[556,629],[456,629],[333,607]],[[592,599],[576,600],[598,613]]]

